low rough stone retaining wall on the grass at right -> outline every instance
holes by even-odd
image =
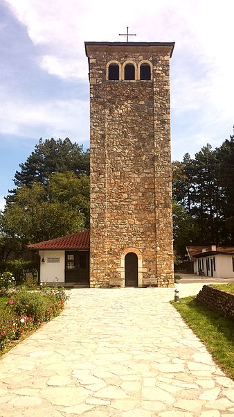
[[[234,319],[234,294],[204,285],[197,294],[197,302]]]

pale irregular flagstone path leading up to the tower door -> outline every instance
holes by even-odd
[[[168,303],[174,289],[70,292],[0,362],[1,417],[234,416],[234,383]]]

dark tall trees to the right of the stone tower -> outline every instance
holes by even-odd
[[[172,164],[172,190],[175,201],[190,219],[181,224],[186,230],[190,220],[196,228],[187,244],[234,245],[234,136],[214,150],[207,144],[190,158]],[[178,207],[174,206],[174,221]],[[181,240],[175,235],[177,246]]]

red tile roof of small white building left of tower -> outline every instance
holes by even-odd
[[[89,249],[89,230],[28,245],[28,249]]]

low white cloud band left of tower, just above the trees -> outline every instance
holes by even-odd
[[[1,133],[37,137],[89,139],[89,104],[80,100],[33,102],[0,93],[4,107],[0,113]],[[80,140],[79,140],[80,139]]]

